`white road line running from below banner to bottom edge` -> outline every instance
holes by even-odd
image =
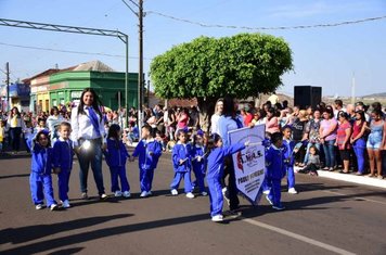
[[[263,222],[260,222],[260,221],[257,221],[257,220],[254,220],[254,219],[249,219],[249,218],[244,218],[244,217],[240,217],[240,219],[242,221],[244,221],[244,222],[247,222],[247,224],[250,224],[250,225],[263,228],[263,229],[268,229],[268,230],[271,230],[271,231],[276,232],[276,233],[284,234],[286,237],[299,240],[299,241],[308,243],[308,244],[316,245],[318,247],[321,247],[321,248],[324,248],[324,250],[327,250],[327,251],[331,251],[331,252],[334,252],[334,253],[337,253],[337,254],[355,255],[355,253],[348,252],[346,250],[343,250],[343,248],[339,248],[339,247],[335,247],[333,245],[330,245],[330,244],[326,244],[326,243],[322,243],[322,242],[319,242],[317,240],[307,238],[305,235],[297,234],[297,233],[294,233],[294,232],[291,232],[291,231],[287,231],[285,229],[281,229],[281,228],[278,228],[278,227],[274,227],[274,226],[271,226],[271,225],[268,225],[268,224],[263,224]]]

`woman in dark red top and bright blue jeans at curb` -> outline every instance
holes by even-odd
[[[364,174],[364,160],[365,160],[365,129],[366,122],[363,111],[356,111],[356,120],[352,124],[352,133],[350,138],[350,143],[352,144],[353,152],[357,157],[358,176]]]

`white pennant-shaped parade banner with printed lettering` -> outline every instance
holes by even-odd
[[[241,128],[228,132],[231,144],[249,141],[249,145],[232,155],[236,186],[253,204],[258,203],[265,179],[265,125]]]

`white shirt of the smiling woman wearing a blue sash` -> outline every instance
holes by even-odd
[[[95,112],[95,115],[98,116],[98,123],[99,123],[99,130],[101,132],[102,137],[99,137],[97,135],[97,131],[94,127],[92,126],[92,123],[89,117],[89,110],[87,109],[88,106],[85,105],[85,113],[86,114],[79,114],[78,115],[78,107],[74,107],[72,110],[72,140],[74,141],[74,145],[78,145],[78,140],[80,138],[91,140],[91,139],[97,139],[97,138],[104,138],[105,137],[105,129],[104,129],[104,120],[99,116],[99,114]]]

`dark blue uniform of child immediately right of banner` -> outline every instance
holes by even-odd
[[[273,206],[281,206],[281,180],[286,171],[285,151],[285,148],[279,149],[273,144],[266,151],[266,181],[271,187],[268,197]]]

